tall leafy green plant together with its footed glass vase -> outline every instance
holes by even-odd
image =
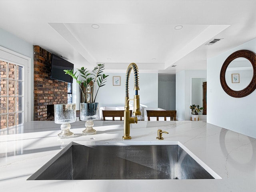
[[[94,67],[92,73],[84,67],[77,70],[79,72],[78,75],[76,75],[77,71],[73,73],[73,70],[64,70],[64,72],[76,80],[82,92],[84,102],[80,103],[80,120],[86,121],[86,129],[83,134],[96,134],[96,130],[92,128],[92,120],[98,119],[99,116],[98,103],[95,100],[100,87],[105,85],[108,75],[103,74],[104,64],[98,64]],[[79,80],[79,76],[82,77],[82,80]],[[82,85],[85,89],[82,88]]]

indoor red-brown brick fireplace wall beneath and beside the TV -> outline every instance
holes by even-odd
[[[47,117],[47,106],[68,102],[66,82],[50,79],[52,54],[34,46],[34,120],[54,120]]]

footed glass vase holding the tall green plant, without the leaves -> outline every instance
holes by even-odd
[[[99,118],[99,108],[98,103],[81,103],[80,104],[80,120],[86,121],[85,127],[83,130],[84,135],[93,135],[96,134],[96,130],[93,129],[94,123],[93,120]]]

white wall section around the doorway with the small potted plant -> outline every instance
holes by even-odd
[[[183,70],[176,73],[176,110],[178,120],[190,120],[191,78],[206,78],[206,74],[206,70]]]

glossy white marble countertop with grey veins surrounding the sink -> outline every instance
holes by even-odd
[[[84,122],[71,124],[74,138],[58,139],[60,125],[29,122],[20,134],[0,135],[1,192],[254,192],[256,191],[256,139],[207,124],[205,121],[139,121],[132,124],[132,140],[122,140],[123,122],[95,121],[95,135],[84,136]],[[169,132],[156,140],[157,130]],[[222,179],[197,180],[27,180],[70,142],[182,143]],[[254,152],[255,150],[255,152]]]

